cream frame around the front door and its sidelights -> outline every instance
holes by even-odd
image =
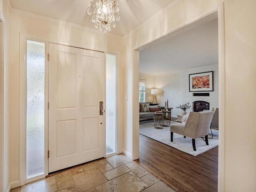
[[[18,186],[23,186],[24,184],[28,183],[26,182],[26,140],[24,140],[24,138],[26,138],[26,84],[24,82],[26,82],[26,70],[24,68],[22,68],[21,66],[26,65],[26,40],[33,40],[33,41],[37,41],[37,42],[44,42],[46,43],[46,54],[48,54],[48,44],[51,43],[55,43],[55,44],[62,44],[62,45],[66,45],[66,46],[73,46],[73,47],[77,47],[77,48],[82,48],[82,49],[88,49],[88,50],[92,50],[86,47],[83,47],[81,45],[70,45],[70,44],[64,44],[64,43],[60,43],[58,42],[58,40],[54,40],[54,39],[49,39],[49,38],[43,38],[40,36],[35,36],[35,35],[31,35],[31,34],[24,34],[24,33],[20,33],[20,85],[19,85],[19,184],[15,187]],[[106,53],[109,54],[115,54],[116,55],[116,103],[120,104],[121,103],[121,96],[122,96],[122,92],[121,92],[121,67],[120,67],[120,52],[119,51],[113,51],[113,50],[108,50],[105,48],[102,48],[100,50],[95,50],[95,51],[100,51],[100,52],[104,52],[104,72],[106,74]],[[47,57],[46,57],[47,59]],[[45,70],[45,79],[47,80],[47,85],[48,85],[48,61],[46,61],[47,64],[47,68]],[[106,81],[106,78],[105,78]],[[48,88],[47,90],[45,90],[45,94],[47,91],[47,95],[48,95]],[[105,91],[106,94],[106,91]],[[45,103],[48,103],[48,97],[45,98]],[[45,106],[45,109],[48,106]],[[46,115],[47,113],[47,115]],[[122,140],[122,118],[123,115],[123,111],[120,108],[116,108],[116,154],[120,154],[122,153],[122,145],[120,144],[121,140]],[[45,117],[47,116],[47,126],[48,126],[48,110],[46,110],[45,112]],[[48,152],[48,127],[45,130],[45,176],[48,175],[48,157],[47,157],[47,152]],[[41,178],[35,178],[34,180],[31,180],[29,182],[33,182],[35,180],[39,180]]]

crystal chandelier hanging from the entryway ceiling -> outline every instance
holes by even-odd
[[[116,1],[113,3],[113,1],[110,0],[98,0],[95,5],[92,5],[92,2],[90,2],[87,13],[92,15],[94,26],[99,28],[100,31],[104,30],[104,33],[111,30],[111,23],[113,27],[116,27],[115,20],[120,21]]]

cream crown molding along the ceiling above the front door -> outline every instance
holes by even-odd
[[[82,25],[79,25],[79,24],[75,24],[75,23],[72,23],[72,22],[67,22],[67,21],[59,20],[59,19],[54,19],[54,18],[50,18],[50,17],[47,17],[47,16],[42,16],[42,15],[39,15],[39,14],[34,14],[34,13],[31,13],[31,12],[26,12],[26,11],[22,11],[22,10],[12,8],[12,6],[10,4],[10,0],[7,0],[7,3],[8,3],[8,6],[10,8],[10,12],[13,13],[13,14],[19,14],[19,15],[22,15],[22,16],[35,18],[35,19],[39,19],[39,20],[44,20],[46,22],[52,22],[52,23],[56,23],[56,24],[60,24],[60,25],[64,25],[64,26],[68,26],[68,27],[72,27],[72,28],[77,28],[77,29],[81,29],[81,30],[84,30],[84,31],[88,31],[88,32],[92,32],[92,33],[96,33],[96,34],[100,34],[100,35],[104,35],[104,36],[123,39],[122,36],[111,34],[111,33],[106,33],[105,34],[103,31],[100,31],[98,29],[94,29],[94,28],[82,26]]]

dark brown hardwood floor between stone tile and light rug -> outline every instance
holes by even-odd
[[[218,146],[194,157],[140,135],[136,162],[177,192],[218,191]]]

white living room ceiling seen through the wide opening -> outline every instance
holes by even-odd
[[[140,74],[159,75],[218,64],[218,19],[140,51]]]

